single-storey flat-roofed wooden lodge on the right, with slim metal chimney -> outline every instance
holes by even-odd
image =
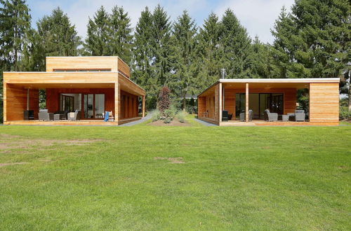
[[[220,126],[236,125],[338,125],[339,78],[220,79],[198,96],[198,117]],[[264,113],[280,118],[297,109],[297,91],[309,95],[305,120],[268,122]],[[252,119],[249,116],[251,111]],[[224,120],[223,113],[229,115]],[[239,114],[244,113],[244,120]]]

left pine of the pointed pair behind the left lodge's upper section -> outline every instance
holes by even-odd
[[[110,15],[105,8],[101,6],[96,11],[93,19],[89,18],[87,38],[84,47],[88,55],[110,55]]]

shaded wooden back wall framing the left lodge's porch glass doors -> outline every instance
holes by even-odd
[[[74,88],[48,88],[46,89],[46,109],[54,113],[60,111],[60,94],[105,94],[105,111],[112,111],[114,114],[114,89],[93,88],[93,89],[74,89]]]

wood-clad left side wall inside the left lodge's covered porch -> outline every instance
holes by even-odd
[[[27,89],[7,84],[4,92],[4,121],[23,120],[23,111],[27,110]],[[34,119],[38,118],[39,91],[29,90],[29,110],[34,111]]]

